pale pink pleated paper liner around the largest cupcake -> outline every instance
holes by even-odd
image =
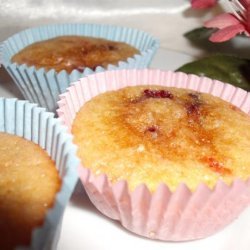
[[[205,77],[146,69],[110,71],[80,79],[60,96],[58,115],[71,130],[76,113],[92,97],[148,84],[210,93],[250,113],[250,94],[240,88]],[[90,200],[103,214],[119,220],[129,231],[164,241],[207,237],[237,218],[250,203],[250,179],[235,179],[231,185],[218,181],[212,190],[201,183],[194,192],[185,183],[174,192],[161,183],[151,193],[145,184],[130,191],[126,180],[111,183],[107,175],[95,176],[87,166],[79,168],[79,176]]]

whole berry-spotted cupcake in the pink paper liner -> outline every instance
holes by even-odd
[[[186,241],[221,230],[250,201],[249,102],[208,78],[123,70],[80,79],[58,115],[103,214],[148,238]]]

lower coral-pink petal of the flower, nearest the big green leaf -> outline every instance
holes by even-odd
[[[244,31],[245,31],[244,25],[242,24],[232,25],[232,26],[226,27],[224,29],[218,30],[217,32],[213,33],[210,36],[209,40],[215,43],[225,42]]]

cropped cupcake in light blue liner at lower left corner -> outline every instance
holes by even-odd
[[[1,248],[55,248],[77,180],[71,136],[27,101],[0,98],[0,117]]]

